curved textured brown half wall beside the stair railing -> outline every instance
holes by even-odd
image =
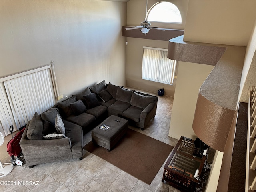
[[[196,103],[194,132],[207,145],[222,152],[237,109],[245,51],[242,46],[227,46],[202,84]]]

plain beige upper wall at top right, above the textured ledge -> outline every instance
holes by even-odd
[[[190,0],[184,40],[246,46],[255,7],[255,0]]]

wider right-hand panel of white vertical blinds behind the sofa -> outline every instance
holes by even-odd
[[[18,128],[35,112],[40,114],[55,104],[50,69],[4,81],[4,86]]]

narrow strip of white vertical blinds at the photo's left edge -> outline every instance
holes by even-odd
[[[0,132],[4,136],[7,136],[8,134],[10,134],[9,127],[11,125],[14,125],[13,128],[16,131],[17,127],[15,125],[10,104],[6,96],[4,83],[0,82]]]

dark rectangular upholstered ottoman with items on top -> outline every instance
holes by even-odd
[[[102,124],[109,125],[110,128],[108,130],[102,130],[99,128]],[[127,129],[128,120],[111,115],[92,130],[92,142],[110,151],[126,133]]]

